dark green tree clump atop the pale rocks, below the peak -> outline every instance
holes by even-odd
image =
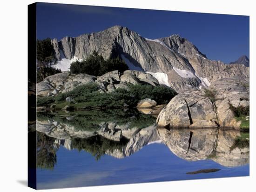
[[[119,56],[104,60],[104,58],[96,51],[93,51],[93,54],[89,55],[86,60],[81,62],[77,60],[70,66],[71,73],[86,73],[94,76],[101,76],[113,70],[123,72],[128,70],[128,66]]]

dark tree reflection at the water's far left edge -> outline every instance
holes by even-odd
[[[54,138],[37,132],[36,166],[41,169],[52,170],[57,162]]]

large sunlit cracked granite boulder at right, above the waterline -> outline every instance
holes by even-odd
[[[209,86],[209,91],[214,98],[205,90],[187,90],[175,96],[158,115],[158,126],[239,128],[241,122],[236,122],[229,106],[249,106],[249,79],[220,79]]]

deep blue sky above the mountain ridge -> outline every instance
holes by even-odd
[[[145,38],[179,34],[209,59],[225,63],[249,57],[249,16],[37,4],[37,38],[77,37],[120,25]]]

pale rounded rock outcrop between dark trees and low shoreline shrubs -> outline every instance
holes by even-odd
[[[152,75],[135,70],[126,70],[123,74],[120,74],[118,70],[114,70],[99,77],[65,72],[46,77],[44,81],[37,83],[37,96],[52,96],[60,92],[66,93],[74,90],[78,85],[87,83],[97,83],[102,92],[111,92],[118,88],[128,89],[128,83],[159,85],[157,79]]]

